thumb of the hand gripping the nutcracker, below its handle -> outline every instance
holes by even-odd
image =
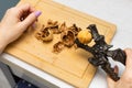
[[[114,73],[119,73],[118,66],[114,66]],[[107,76],[108,88],[114,88],[116,81],[112,80],[109,76]]]

